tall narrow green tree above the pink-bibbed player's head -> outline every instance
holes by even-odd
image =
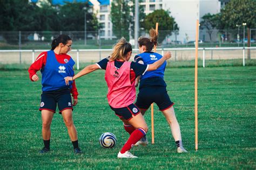
[[[122,36],[129,41],[129,26],[131,22],[130,7],[128,1],[114,0],[111,3],[111,22],[114,36],[121,38]]]

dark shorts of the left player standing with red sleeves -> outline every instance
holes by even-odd
[[[39,110],[50,110],[55,112],[57,104],[59,114],[62,114],[62,111],[66,109],[73,110],[70,89],[65,88],[53,91],[43,91]]]

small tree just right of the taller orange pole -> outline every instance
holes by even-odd
[[[212,41],[212,32],[218,25],[218,17],[216,14],[211,15],[211,13],[206,13],[202,19],[203,21],[200,22],[200,29],[206,29],[210,40]]]

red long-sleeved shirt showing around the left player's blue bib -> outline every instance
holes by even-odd
[[[66,63],[66,61],[69,61],[71,58],[71,56],[68,54],[56,54],[55,53],[55,56],[59,63]],[[45,66],[46,58],[47,58],[47,52],[42,52],[41,54],[38,55],[36,61],[33,62],[32,65],[29,67],[28,71],[29,71],[29,78],[31,81],[33,81],[32,76],[35,75],[36,72],[38,72],[38,70],[40,70],[41,68],[43,68]],[[71,94],[72,94],[73,98],[77,99],[78,92],[77,92],[75,80],[72,83]]]

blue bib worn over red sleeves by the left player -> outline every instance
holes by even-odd
[[[64,77],[73,76],[73,66],[75,61],[70,58],[67,63],[59,63],[56,59],[55,53],[51,50],[47,52],[46,64],[41,69],[42,73],[42,91],[52,91],[62,88],[71,89],[72,81],[69,86],[66,86]]]

